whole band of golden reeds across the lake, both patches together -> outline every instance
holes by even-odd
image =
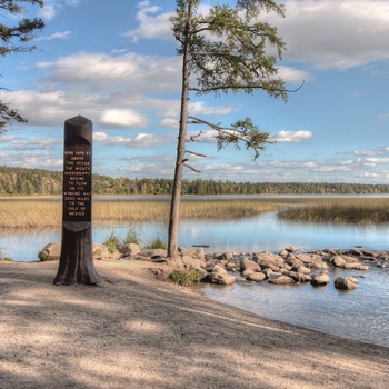
[[[93,202],[93,223],[168,221],[167,200]],[[233,220],[278,210],[282,220],[378,225],[389,222],[389,198],[278,198],[184,200],[181,219]],[[61,201],[14,199],[0,201],[0,228],[61,226]]]

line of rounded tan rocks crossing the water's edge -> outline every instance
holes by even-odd
[[[58,256],[59,243],[50,245],[57,249]],[[50,245],[42,250],[46,253],[44,257],[50,257]],[[193,250],[180,248],[180,259],[176,261],[167,258],[166,250],[141,250],[138,245],[133,243],[126,245],[121,252],[117,253],[109,253],[106,246],[97,243],[93,245],[93,250],[97,260],[130,259],[173,265],[167,268],[166,272],[173,271],[172,269],[178,267],[180,269],[192,267],[201,273],[203,282],[218,285],[267,281],[273,285],[310,282],[313,287],[322,287],[330,282],[328,270],[332,268],[368,270],[367,263],[381,268],[389,267],[388,251],[363,249],[326,249],[302,252],[297,247],[289,247],[279,253],[262,251],[243,255],[227,251],[206,255],[203,248]],[[357,277],[338,277],[335,280],[335,288],[352,290],[357,283]]]

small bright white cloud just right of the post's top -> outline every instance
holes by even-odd
[[[148,120],[132,109],[107,109],[100,114],[100,124],[106,128],[139,128],[147,123]]]

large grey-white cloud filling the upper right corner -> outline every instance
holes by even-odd
[[[389,58],[386,0],[287,0],[273,20],[287,43],[286,58],[317,68],[348,69]]]

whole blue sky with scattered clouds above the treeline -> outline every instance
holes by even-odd
[[[207,12],[216,1],[202,1]],[[287,0],[279,28],[287,51],[279,73],[289,100],[191,97],[191,113],[228,126],[250,117],[269,144],[217,151],[212,134],[190,158],[187,179],[233,181],[389,181],[389,1]],[[26,117],[0,138],[0,164],[62,169],[63,122],[92,120],[93,171],[172,178],[180,103],[180,57],[169,16],[173,0],[46,0],[29,16],[47,27],[32,53],[1,58],[0,99]],[[191,129],[193,133],[196,129]]]

